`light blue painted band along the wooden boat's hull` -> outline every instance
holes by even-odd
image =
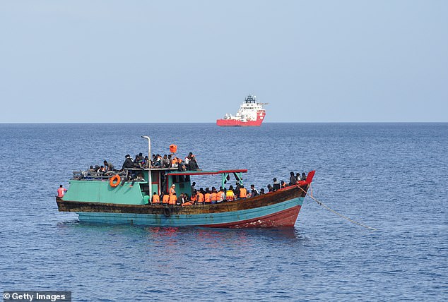
[[[201,226],[207,224],[225,224],[232,222],[240,222],[248,219],[256,219],[276,212],[288,210],[297,205],[302,205],[305,198],[293,198],[268,205],[266,207],[257,207],[249,210],[241,210],[236,212],[223,212],[213,214],[198,215],[153,215],[153,214],[129,214],[129,213],[106,213],[106,212],[78,212],[81,222],[95,222],[106,224],[141,224],[157,227],[187,227]],[[194,207],[194,205],[191,205]]]

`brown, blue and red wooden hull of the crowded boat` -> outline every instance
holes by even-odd
[[[302,188],[307,190],[308,186]],[[305,193],[290,186],[274,193],[216,205],[186,207],[117,205],[57,198],[61,212],[76,212],[81,222],[141,224],[155,227],[293,227]]]

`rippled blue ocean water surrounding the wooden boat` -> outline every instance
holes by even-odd
[[[257,188],[317,170],[293,229],[79,223],[73,170],[176,143]],[[446,301],[448,123],[0,124],[0,289],[73,301]],[[199,179],[201,182],[213,179]],[[218,179],[216,179],[218,183]]]

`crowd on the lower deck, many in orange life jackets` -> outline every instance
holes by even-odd
[[[196,183],[193,182],[191,184],[191,196],[187,193],[181,193],[179,198],[176,193],[176,185],[173,184],[169,191],[163,192],[160,195],[154,192],[150,204],[182,206],[214,205],[217,203],[232,202],[235,200],[246,200],[247,198],[257,195],[272,193],[280,190],[281,188],[285,188],[286,186],[293,186],[296,184],[302,185],[305,183],[306,179],[307,176],[305,172],[302,173],[302,176],[300,176],[300,173],[294,175],[294,172],[290,172],[290,182],[288,184],[285,183],[285,181],[278,182],[277,179],[274,178],[273,184],[267,185],[267,192],[264,191],[264,188],[261,188],[260,191],[258,191],[253,184],[250,185],[250,189],[244,188],[240,181],[235,183],[235,188],[230,185],[229,188],[223,188],[220,186],[219,188],[205,188],[205,190],[204,188],[196,189]]]

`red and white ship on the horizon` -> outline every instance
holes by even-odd
[[[221,127],[261,126],[266,116],[263,105],[266,104],[268,103],[257,102],[254,95],[248,95],[235,116],[225,114],[223,119],[216,120],[216,125]]]

